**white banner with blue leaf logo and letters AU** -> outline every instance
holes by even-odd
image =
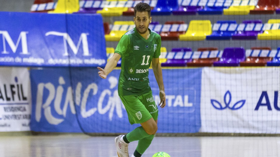
[[[279,71],[203,68],[200,132],[280,133]]]

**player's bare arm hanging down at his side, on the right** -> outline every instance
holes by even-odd
[[[159,58],[153,58],[151,64],[152,64],[152,67],[153,67],[153,72],[155,74],[155,79],[157,80],[157,84],[158,84],[158,87],[160,89],[160,104],[159,104],[159,106],[161,108],[164,108],[165,105],[166,105],[166,102],[165,102],[165,92],[164,92],[164,85],[163,85],[163,79],[162,79],[162,69],[161,69]]]

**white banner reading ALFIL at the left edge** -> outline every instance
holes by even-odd
[[[0,68],[0,131],[30,131],[30,89],[27,68]]]

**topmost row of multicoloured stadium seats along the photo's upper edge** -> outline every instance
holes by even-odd
[[[152,15],[247,15],[280,13],[280,0],[35,0],[31,12],[100,13],[102,16],[134,15],[139,2],[150,4]],[[57,5],[58,4],[58,5]],[[67,6],[67,7],[65,7]]]

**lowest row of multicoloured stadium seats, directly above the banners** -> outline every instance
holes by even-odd
[[[113,56],[114,48],[107,48],[108,60]],[[245,51],[242,47],[228,47],[222,51],[218,48],[173,48],[167,52],[161,48],[160,63],[163,67],[205,67],[205,66],[279,66],[280,47],[252,47]],[[117,66],[120,66],[121,59]]]

